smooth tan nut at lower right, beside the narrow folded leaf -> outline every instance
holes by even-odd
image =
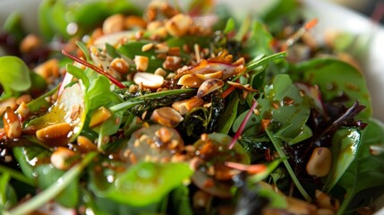
[[[332,164],[332,153],[327,147],[315,148],[307,163],[307,173],[311,176],[327,176]]]

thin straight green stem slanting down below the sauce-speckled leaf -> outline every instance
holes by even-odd
[[[277,150],[278,156],[280,158],[286,158],[286,154],[284,153],[283,150],[281,150],[281,142],[277,140],[273,136],[273,133],[269,131],[269,129],[265,129],[265,132],[268,134],[270,141],[273,143],[273,146]],[[291,165],[289,164],[287,159],[283,160],[284,165],[286,166],[286,170],[289,173],[289,176],[291,176],[292,180],[294,181],[294,185],[296,185],[297,189],[299,190],[300,193],[302,193],[304,199],[307,202],[312,202],[311,196],[304,190],[303,186],[300,184],[299,180],[297,179],[296,175],[294,174],[294,169],[292,169]]]

